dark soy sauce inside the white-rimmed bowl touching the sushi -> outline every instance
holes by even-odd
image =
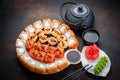
[[[80,60],[80,54],[77,51],[70,51],[67,54],[67,59],[69,62],[77,62]]]

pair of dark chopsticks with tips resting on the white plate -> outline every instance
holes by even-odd
[[[85,73],[87,70],[89,70],[90,68],[93,67],[93,65],[91,65],[91,66],[89,66],[89,67],[88,67],[88,66],[89,66],[89,64],[87,64],[86,66],[84,66],[84,67],[82,67],[82,68],[76,70],[75,72],[69,74],[68,76],[62,78],[61,80],[68,80],[69,78],[72,78],[72,77],[74,77],[73,80],[76,80],[77,78],[79,78],[80,75],[82,75],[82,74]],[[86,67],[88,67],[88,68],[85,69],[83,72],[78,73],[78,72],[82,71],[82,70],[83,70],[84,68],[86,68]]]

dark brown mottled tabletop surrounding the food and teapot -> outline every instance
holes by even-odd
[[[56,74],[40,75],[28,71],[17,60],[15,41],[25,26],[44,18],[58,19],[62,3],[69,0],[0,0],[0,80],[60,80],[81,63]],[[120,80],[120,2],[119,0],[71,0],[88,5],[95,14],[94,28],[100,33],[98,46],[110,57],[111,70],[106,78],[89,73],[79,80]],[[81,32],[76,33],[81,51]]]

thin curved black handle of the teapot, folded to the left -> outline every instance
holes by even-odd
[[[66,19],[63,17],[63,7],[64,7],[65,5],[67,5],[67,4],[76,4],[76,3],[74,3],[74,2],[65,2],[65,3],[63,3],[63,4],[61,5],[61,7],[60,7],[60,16],[61,16],[61,18],[62,18],[65,22],[67,22],[67,23],[69,23],[69,24],[71,24],[71,25],[81,24],[82,20],[81,20],[81,22],[78,22],[78,23],[72,23],[72,22],[69,22],[68,20],[66,20]],[[83,28],[86,28],[86,24],[81,24],[81,25],[82,25]]]

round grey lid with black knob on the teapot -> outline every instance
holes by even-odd
[[[89,14],[89,12],[90,12],[89,7],[84,4],[76,4],[71,8],[71,13],[75,17],[85,17]]]

